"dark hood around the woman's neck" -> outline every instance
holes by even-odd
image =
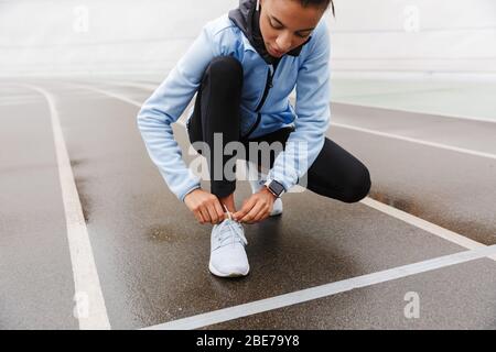
[[[256,11],[256,7],[257,0],[239,0],[239,7],[229,11],[229,19],[242,31],[257,53],[259,53],[268,64],[277,64],[279,59],[271,56],[266,50],[259,25],[260,11]],[[311,36],[303,44],[284,55],[300,55],[303,45],[305,45],[310,38]]]

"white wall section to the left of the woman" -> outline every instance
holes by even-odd
[[[161,74],[236,0],[0,0],[0,75]]]

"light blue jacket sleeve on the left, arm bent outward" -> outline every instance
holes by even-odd
[[[184,163],[171,123],[177,121],[190,103],[205,68],[220,55],[218,51],[206,25],[137,117],[150,158],[171,191],[182,201],[190,191],[200,187],[200,178]]]

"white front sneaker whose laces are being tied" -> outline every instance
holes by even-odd
[[[248,275],[250,265],[245,252],[247,244],[242,226],[230,219],[230,215],[229,219],[215,224],[211,237],[211,273],[220,277]]]

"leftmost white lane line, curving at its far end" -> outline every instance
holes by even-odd
[[[52,130],[61,180],[62,199],[67,226],[67,240],[73,266],[75,287],[75,312],[78,312],[79,329],[110,329],[107,308],[101,293],[100,280],[89,242],[83,210],[74,182],[67,147],[62,133],[55,98],[48,91],[31,86],[19,85],[41,94],[50,107]]]

